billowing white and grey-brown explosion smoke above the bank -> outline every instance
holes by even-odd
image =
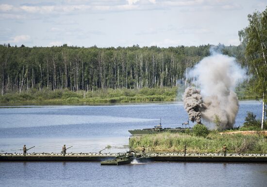
[[[203,58],[187,76],[200,88],[199,91],[189,87],[184,92],[184,108],[190,120],[200,123],[202,118],[214,128],[217,116],[220,128],[232,128],[239,108],[234,88],[245,77],[245,70],[236,64],[235,58],[214,53]]]

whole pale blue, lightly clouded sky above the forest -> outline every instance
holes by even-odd
[[[266,0],[0,0],[0,44],[238,45]]]

